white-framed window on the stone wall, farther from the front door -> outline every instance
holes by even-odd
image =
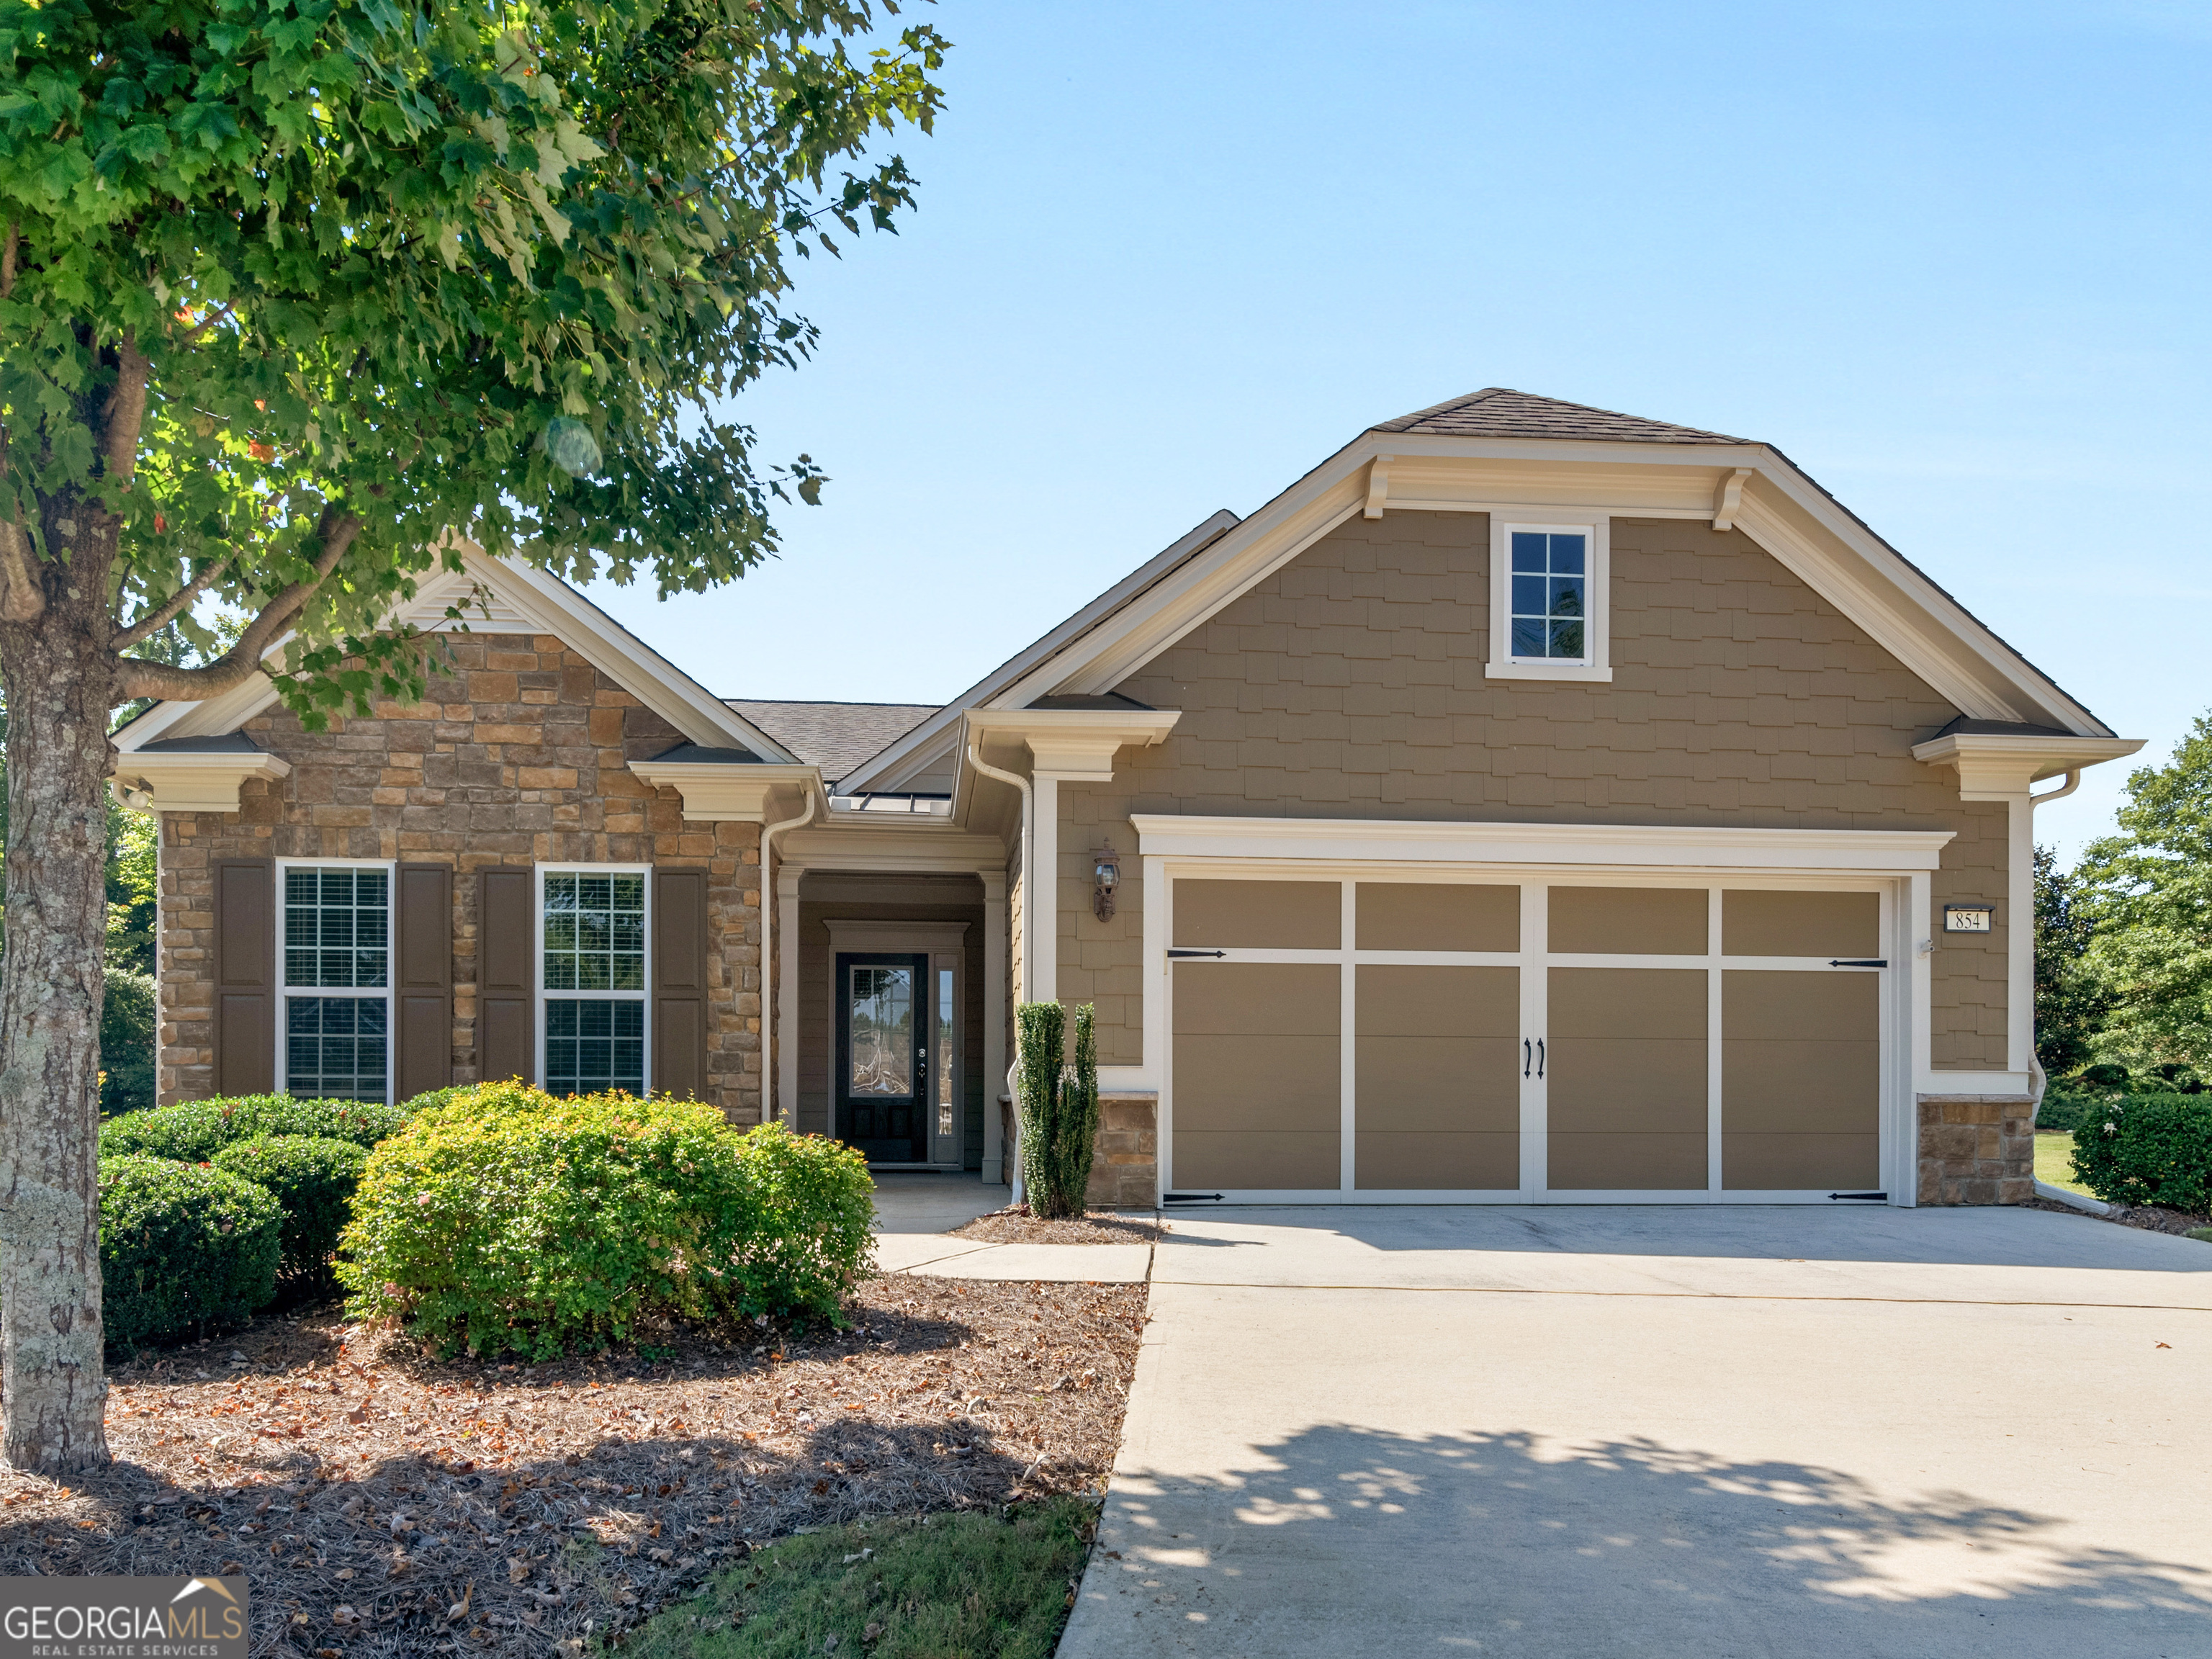
[[[288,1095],[392,1095],[392,865],[285,863],[279,1075]]]

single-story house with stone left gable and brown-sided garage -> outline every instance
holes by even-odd
[[[522,1075],[1002,1181],[1060,998],[1106,1201],[2006,1203],[2031,785],[2139,748],[1772,445],[1509,389],[942,708],[717,697],[473,551],[398,619],[469,593],[416,708],[117,734],[164,1099]]]

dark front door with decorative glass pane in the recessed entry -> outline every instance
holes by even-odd
[[[836,958],[836,1137],[869,1164],[929,1161],[929,958]]]

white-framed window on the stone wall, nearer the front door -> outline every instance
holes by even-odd
[[[646,872],[538,872],[546,1093],[646,1093]]]

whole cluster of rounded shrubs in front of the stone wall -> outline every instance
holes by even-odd
[[[838,1318],[874,1243],[854,1148],[739,1133],[697,1102],[254,1095],[133,1113],[100,1152],[106,1329],[126,1345],[243,1321],[279,1274],[330,1272],[349,1316],[447,1354]]]

